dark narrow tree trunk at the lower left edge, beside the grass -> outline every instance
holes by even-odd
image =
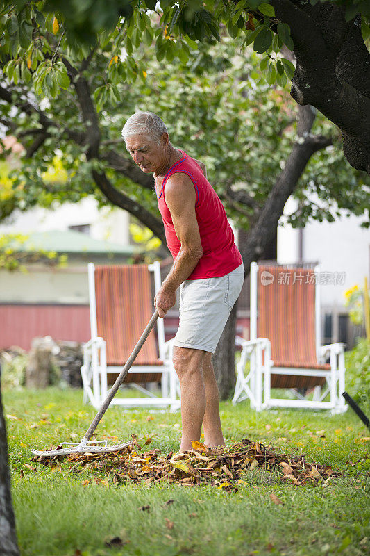
[[[8,441],[6,424],[1,402],[0,367],[0,556],[19,556],[15,517],[10,493],[10,472],[8,462]]]

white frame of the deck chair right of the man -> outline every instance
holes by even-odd
[[[233,404],[249,398],[251,407],[256,411],[270,407],[296,407],[307,409],[330,409],[332,413],[343,413],[348,406],[344,402],[342,393],[345,390],[344,376],[344,344],[332,343],[321,346],[320,329],[320,284],[319,266],[314,268],[316,275],[315,286],[315,333],[317,345],[317,361],[325,363],[329,360],[330,370],[275,367],[271,361],[271,343],[268,338],[257,338],[257,279],[258,264],[251,263],[251,325],[250,340],[242,343],[242,353],[237,364],[237,382],[233,397]],[[250,368],[245,374],[247,363]],[[295,389],[290,392],[296,399],[271,398],[271,375],[301,375],[325,377],[326,385],[321,392],[321,386],[314,388],[313,400],[306,400]],[[330,401],[325,399],[330,395]]]

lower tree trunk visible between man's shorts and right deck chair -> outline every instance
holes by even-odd
[[[221,334],[215,354],[212,358],[219,396],[227,400],[235,389],[235,326],[237,322],[237,302],[231,309],[224,332]]]

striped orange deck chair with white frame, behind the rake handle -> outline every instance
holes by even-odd
[[[91,340],[84,346],[84,402],[96,408],[106,398],[137,340],[153,314],[150,273],[155,291],[160,288],[160,263],[152,265],[88,265]],[[124,379],[145,394],[145,398],[113,398],[122,407],[170,407],[178,409],[177,376],[172,364],[171,341],[165,343],[163,319],[157,320],[157,338],[149,334],[134,365]],[[161,382],[161,395],[143,383]]]

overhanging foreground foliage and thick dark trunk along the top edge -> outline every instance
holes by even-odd
[[[339,126],[347,161],[370,173],[367,1],[18,0],[6,3],[1,15],[6,76],[33,81],[37,95],[54,98],[76,79],[74,61],[88,60],[96,49],[112,55],[111,75],[133,82],[145,71],[143,44],[155,46],[160,61],[185,63],[190,49],[228,33],[235,47],[253,44],[268,83],[292,79],[296,102],[315,106]],[[284,56],[287,48],[295,69]],[[117,95],[110,76],[101,87],[98,97]]]

